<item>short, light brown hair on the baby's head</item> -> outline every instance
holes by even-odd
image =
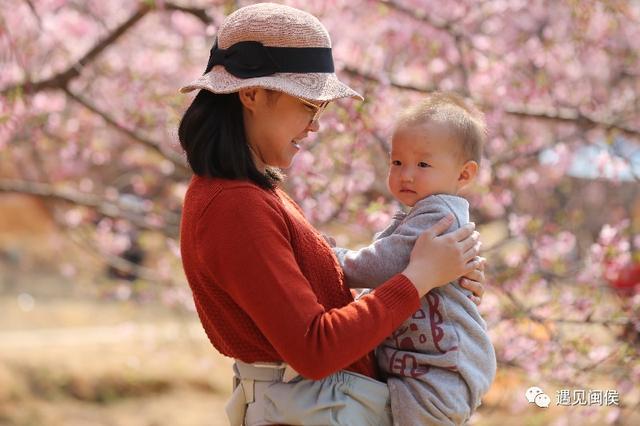
[[[478,108],[455,93],[433,92],[417,105],[406,109],[400,116],[396,129],[428,122],[444,124],[451,129],[453,136],[460,141],[462,160],[474,160],[480,164],[487,125]]]

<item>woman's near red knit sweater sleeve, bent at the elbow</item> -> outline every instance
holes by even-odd
[[[259,189],[240,195],[221,193],[203,213],[200,260],[304,377],[352,364],[418,309],[415,287],[398,274],[357,302],[325,310],[298,267],[282,207]]]

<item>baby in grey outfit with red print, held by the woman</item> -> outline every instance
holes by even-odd
[[[409,263],[420,234],[444,216],[451,232],[469,221],[458,196],[478,173],[485,139],[482,113],[454,94],[433,93],[398,121],[388,184],[411,209],[361,250],[334,248],[351,288],[375,288]],[[487,327],[471,292],[457,281],[431,290],[421,307],[378,347],[388,376],[395,425],[464,424],[496,373]]]

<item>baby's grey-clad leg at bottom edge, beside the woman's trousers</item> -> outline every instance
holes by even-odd
[[[459,373],[431,367],[423,376],[390,377],[387,384],[395,426],[450,426],[471,416],[471,395]]]

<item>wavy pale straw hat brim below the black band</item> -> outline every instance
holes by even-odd
[[[263,87],[314,101],[340,98],[364,98],[338,80],[334,73],[276,73],[265,77],[238,78],[216,65],[197,80],[180,88],[180,92],[205,89],[213,93],[233,93],[247,87]]]

